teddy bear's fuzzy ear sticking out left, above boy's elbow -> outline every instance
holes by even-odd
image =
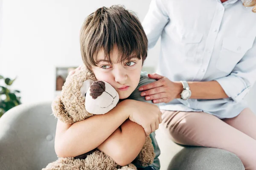
[[[57,97],[55,101],[52,102],[52,112],[55,117],[61,120],[61,122],[72,124],[74,123],[73,118],[67,113],[65,107],[61,101],[61,97]]]

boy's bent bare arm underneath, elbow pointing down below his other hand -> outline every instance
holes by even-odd
[[[124,166],[138,156],[145,139],[143,127],[126,120],[120,128],[99,145],[98,149],[110,156],[117,164]]]

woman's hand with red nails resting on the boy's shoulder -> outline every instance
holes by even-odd
[[[140,95],[145,96],[146,100],[152,100],[153,103],[168,103],[180,98],[183,90],[181,82],[172,82],[159,74],[148,74],[148,77],[157,81],[139,88],[139,91],[143,91]]]

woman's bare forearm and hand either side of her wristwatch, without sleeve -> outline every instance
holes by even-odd
[[[172,82],[168,78],[158,74],[149,74],[151,79],[157,79],[148,85],[139,88],[141,96],[146,100],[152,100],[153,103],[171,102],[173,99],[180,99],[180,93],[183,91],[181,82]],[[227,94],[217,81],[209,82],[188,82],[192,92],[191,99],[223,99]]]

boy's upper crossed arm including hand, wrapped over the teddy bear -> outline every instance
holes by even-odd
[[[102,144],[128,118],[141,125],[147,135],[162,121],[157,106],[127,99],[106,114],[94,115],[73,125],[58,121],[55,152],[58,157],[87,153]]]

